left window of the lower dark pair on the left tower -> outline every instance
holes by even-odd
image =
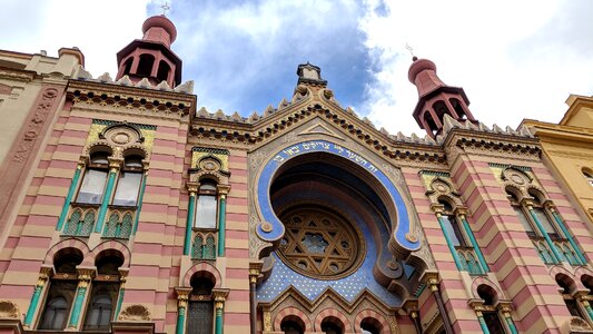
[[[82,254],[78,249],[67,248],[56,255],[56,274],[49,283],[39,330],[60,331],[66,327],[78,285],[76,267],[81,262]]]

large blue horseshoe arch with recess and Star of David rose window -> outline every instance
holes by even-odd
[[[273,314],[287,289],[315,304],[335,293],[349,332],[365,294],[380,301],[369,306],[374,314],[393,314],[414,295],[418,281],[411,277],[425,268],[408,256],[421,248],[415,212],[383,167],[338,144],[310,140],[276,150],[255,179],[256,234],[271,245],[259,254],[274,259],[257,301]],[[316,323],[324,320],[306,308]]]

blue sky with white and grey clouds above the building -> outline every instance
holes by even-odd
[[[116,52],[141,37],[160,0],[2,0],[0,49],[78,47],[93,75],[116,73]],[[591,0],[172,0],[168,17],[199,107],[248,116],[289,99],[310,61],[344,106],[389,132],[421,134],[407,80],[411,55],[461,86],[492,126],[557,122],[569,94],[593,95]]]

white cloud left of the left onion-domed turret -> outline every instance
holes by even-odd
[[[116,53],[142,37],[149,0],[9,1],[0,12],[0,48],[57,57],[62,47],[78,47],[93,76],[117,71]],[[3,4],[4,6],[4,4]]]

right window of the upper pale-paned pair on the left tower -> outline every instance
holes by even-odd
[[[138,193],[142,181],[142,157],[132,155],[125,158],[116,195],[113,196],[113,205],[136,206],[138,204]]]

